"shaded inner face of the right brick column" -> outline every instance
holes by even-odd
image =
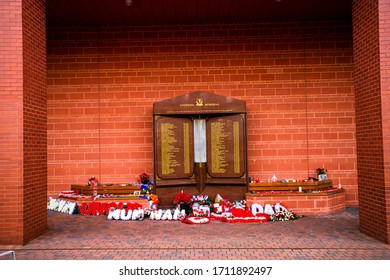
[[[387,241],[382,121],[383,115],[388,113],[382,108],[379,22],[377,1],[354,1],[360,229],[367,235]],[[377,218],[374,219],[373,209],[383,211],[376,211]]]

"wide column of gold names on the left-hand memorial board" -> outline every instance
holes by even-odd
[[[179,147],[175,146],[177,140],[174,129],[176,128],[176,125],[171,123],[161,124],[161,173],[164,175],[175,173],[175,168],[180,166],[176,160],[176,154],[180,152]]]

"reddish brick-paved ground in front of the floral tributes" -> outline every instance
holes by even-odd
[[[359,232],[358,210],[265,224],[108,221],[48,212],[47,233],[18,260],[390,260],[390,245]]]

